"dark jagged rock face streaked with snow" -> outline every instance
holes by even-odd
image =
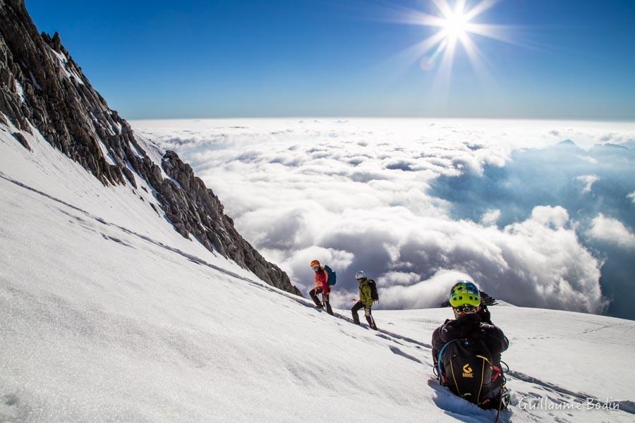
[[[236,231],[218,197],[191,166],[175,152],[165,153],[162,168],[147,156],[130,125],[92,88],[57,32],[53,37],[37,32],[23,0],[0,0],[0,112],[0,123],[7,124],[8,118],[21,131],[39,131],[104,185],[137,188],[137,178],[147,181],[165,218],[183,237],[192,234],[208,250],[300,295],[289,276]],[[30,150],[21,133],[13,136]]]

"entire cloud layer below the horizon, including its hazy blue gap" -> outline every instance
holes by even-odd
[[[469,278],[515,305],[635,318],[635,295],[620,292],[634,266],[635,124],[132,125],[190,163],[238,231],[298,288],[313,285],[312,259],[330,264],[337,307],[350,307],[353,274],[364,270],[382,308],[437,307]]]

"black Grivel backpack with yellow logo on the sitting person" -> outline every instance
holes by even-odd
[[[493,362],[483,338],[449,341],[437,359],[441,383],[455,395],[476,405],[492,396]]]

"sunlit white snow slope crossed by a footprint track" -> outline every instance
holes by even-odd
[[[176,233],[151,192],[104,187],[0,128],[0,422],[490,422],[440,388],[449,309],[330,317]],[[514,422],[631,422],[635,322],[493,307]],[[527,410],[532,395],[581,410]],[[619,410],[586,410],[612,397]],[[525,409],[523,409],[525,408]]]

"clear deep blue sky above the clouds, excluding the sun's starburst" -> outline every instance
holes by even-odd
[[[450,4],[454,4],[450,1]],[[478,1],[468,0],[470,8]],[[394,22],[431,1],[26,0],[111,108],[134,118],[451,116],[635,120],[635,1],[502,0],[473,20],[449,84],[399,52],[436,32]],[[407,15],[407,13],[406,13]],[[411,16],[415,16],[414,14]],[[423,59],[423,57],[422,57]],[[445,75],[447,73],[442,73]]]

